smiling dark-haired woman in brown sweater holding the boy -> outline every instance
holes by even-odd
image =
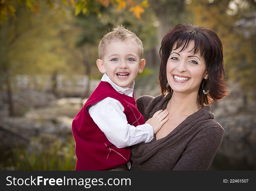
[[[178,24],[160,57],[161,95],[136,102],[145,121],[160,109],[169,119],[153,140],[132,147],[131,170],[207,170],[224,134],[209,106],[227,95],[222,43],[212,30]]]

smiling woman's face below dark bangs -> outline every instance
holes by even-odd
[[[191,51],[193,47],[194,41],[191,41],[183,51],[181,51],[182,47],[179,47],[170,53],[166,75],[174,92],[198,93],[203,78],[207,78],[205,59],[200,55],[200,52],[194,54]]]

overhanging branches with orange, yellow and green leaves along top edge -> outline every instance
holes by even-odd
[[[109,5],[114,5],[117,11],[125,10],[129,8],[129,12],[133,12],[138,19],[141,18],[141,13],[145,10],[143,7],[147,7],[147,1],[138,1],[136,3],[133,0],[61,0],[63,5],[72,6],[75,11],[74,14],[77,16],[80,12],[84,15],[89,15],[91,13],[96,13],[98,17],[101,17],[102,6],[108,7]],[[0,1],[0,23],[3,20],[8,20],[8,15],[12,15],[16,18],[16,12],[19,5],[25,5],[33,13],[38,13],[41,5],[40,0],[1,0]],[[54,0],[44,0],[44,3],[48,4],[51,9],[60,8],[62,6],[56,3]]]

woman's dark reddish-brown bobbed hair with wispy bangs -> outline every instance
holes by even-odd
[[[183,51],[193,41],[194,48],[191,50],[195,53],[200,51],[201,56],[205,58],[208,78],[202,80],[199,91],[199,103],[203,107],[209,105],[213,100],[219,101],[227,96],[228,91],[226,81],[224,81],[225,71],[223,68],[223,48],[221,40],[218,35],[207,28],[201,26],[193,26],[192,24],[178,24],[168,33],[161,42],[160,58],[161,64],[159,69],[159,83],[161,94],[171,91],[171,87],[166,87],[166,65],[171,51],[182,47]],[[175,46],[175,47],[174,47]],[[204,94],[202,83],[204,83],[204,90],[210,90],[209,94]]]

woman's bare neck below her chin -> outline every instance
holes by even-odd
[[[173,92],[166,107],[170,113],[179,113],[187,116],[197,112],[200,108],[202,107],[199,105],[198,92],[190,94]]]

